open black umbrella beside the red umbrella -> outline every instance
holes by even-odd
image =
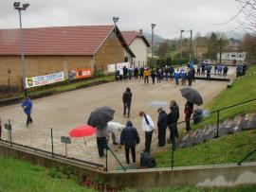
[[[101,127],[113,120],[114,113],[115,110],[109,107],[98,108],[90,114],[87,124],[93,127]]]

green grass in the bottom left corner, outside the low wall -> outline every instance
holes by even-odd
[[[66,179],[54,169],[0,157],[0,191],[5,192],[72,192],[91,191],[75,179]]]

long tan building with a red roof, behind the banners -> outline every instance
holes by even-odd
[[[76,68],[107,71],[107,65],[134,58],[115,26],[54,26],[24,28],[27,77]],[[9,72],[9,73],[8,73]],[[0,85],[22,83],[19,29],[0,29]]]

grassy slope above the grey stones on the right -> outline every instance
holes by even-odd
[[[249,75],[242,77],[242,79],[235,80],[231,88],[222,91],[218,96],[214,97],[210,104],[206,106],[206,109],[210,109],[212,112],[217,109],[256,98],[256,75],[253,73],[256,73],[256,65],[250,66],[247,71],[247,74]],[[256,112],[256,100],[241,106],[221,111],[220,119],[224,120],[237,114],[253,112]],[[216,123],[216,115],[217,113],[210,114],[210,116],[204,121],[196,126],[192,126],[192,129],[196,130],[211,123]]]

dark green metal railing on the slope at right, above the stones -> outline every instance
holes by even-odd
[[[224,107],[224,108],[221,108],[221,109],[217,109],[217,110],[214,110],[214,111],[212,111],[212,112],[210,112],[210,114],[212,114],[212,113],[217,113],[217,119],[216,119],[216,121],[217,121],[217,131],[216,131],[216,136],[214,137],[214,138],[218,138],[219,137],[219,126],[220,126],[220,112],[222,112],[222,111],[225,111],[225,110],[228,110],[228,109],[230,109],[230,108],[234,108],[234,107],[236,107],[236,106],[240,106],[240,105],[244,105],[244,104],[246,104],[246,103],[248,103],[248,102],[252,102],[252,101],[256,101],[256,98],[252,98],[252,99],[249,99],[249,100],[247,100],[247,101],[244,101],[244,102],[240,102],[240,103],[236,103],[236,104],[233,104],[233,105],[229,105],[228,107]],[[201,114],[201,115],[196,115],[196,116],[194,116],[194,117],[192,117],[192,118],[190,118],[190,119],[188,119],[188,120],[185,120],[185,121],[180,121],[180,122],[177,122],[177,123],[175,123],[175,124],[173,124],[173,125],[171,125],[171,127],[172,126],[177,126],[177,125],[179,125],[179,124],[182,124],[182,123],[186,123],[187,121],[191,121],[191,120],[193,120],[193,119],[195,119],[195,118],[198,118],[198,117],[203,117],[203,114]],[[172,169],[174,168],[174,150],[175,150],[175,137],[172,139],[172,160],[171,160],[171,167],[172,167]],[[256,149],[255,149],[256,150]],[[252,155],[254,152],[255,152],[255,150],[253,150],[251,153],[249,153],[242,161],[241,161],[241,163],[240,164],[242,164],[250,155]],[[239,165],[239,163],[238,163],[238,165]]]

